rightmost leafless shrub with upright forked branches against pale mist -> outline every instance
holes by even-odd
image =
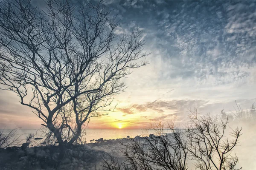
[[[228,119],[221,120],[210,114],[199,115],[198,109],[190,111],[190,122],[187,125],[189,156],[195,167],[200,170],[239,170],[236,169],[237,156],[232,155],[238,144],[242,128],[232,130],[228,139],[225,135]]]

